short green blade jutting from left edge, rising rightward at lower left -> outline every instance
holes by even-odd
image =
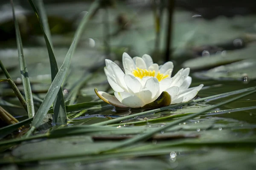
[[[18,123],[15,123],[13,125],[8,125],[8,126],[0,128],[0,139],[5,137],[6,135],[12,133],[14,130],[17,130],[19,127],[30,123],[32,121],[32,119],[33,118],[31,117],[31,118],[25,119],[23,121],[20,121]]]

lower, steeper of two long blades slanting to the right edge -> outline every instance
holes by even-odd
[[[201,114],[205,114],[207,111],[210,111],[210,110],[212,110],[212,109],[214,109],[214,108],[218,108],[218,107],[220,107],[220,106],[222,106],[222,105],[226,105],[226,104],[228,104],[228,103],[230,103],[230,102],[233,102],[233,101],[235,101],[235,100],[237,100],[237,99],[240,99],[240,98],[242,98],[242,97],[244,97],[244,96],[247,96],[247,95],[249,95],[249,94],[253,94],[253,93],[255,93],[255,92],[256,92],[256,90],[253,90],[253,91],[250,91],[250,92],[248,92],[248,93],[241,94],[241,95],[239,95],[239,96],[233,97],[232,99],[229,99],[229,100],[220,102],[220,103],[218,103],[218,104],[216,104],[216,105],[212,105],[212,106],[210,106],[210,107],[204,109],[203,111],[200,111],[200,112],[198,112],[198,113],[193,113],[193,114],[191,114],[191,115],[189,115],[189,116],[186,116],[186,117],[184,117],[184,118],[182,118],[182,119],[177,119],[177,120],[175,120],[175,121],[169,123],[169,124],[166,125],[166,126],[157,128],[156,130],[153,130],[153,131],[148,132],[148,133],[146,133],[146,134],[143,134],[143,135],[141,135],[141,136],[136,136],[136,137],[134,137],[134,138],[127,139],[127,140],[125,140],[124,142],[121,142],[120,144],[117,144],[115,147],[108,148],[107,150],[103,150],[102,152],[107,152],[107,151],[110,151],[110,150],[116,150],[116,149],[118,149],[118,148],[120,148],[120,147],[127,147],[127,146],[130,146],[131,144],[134,144],[134,143],[136,143],[136,142],[143,142],[143,141],[149,139],[151,136],[153,136],[153,135],[156,134],[156,133],[159,133],[159,132],[164,131],[164,130],[170,128],[170,127],[173,127],[173,126],[175,126],[175,125],[178,125],[178,124],[181,123],[181,122],[186,122],[187,120],[192,119],[192,118],[194,118],[194,117],[196,117],[196,116],[199,116],[199,115],[201,115]]]

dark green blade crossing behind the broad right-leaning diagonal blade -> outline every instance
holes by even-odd
[[[52,81],[55,78],[56,74],[58,73],[58,65],[55,59],[55,55],[53,53],[53,46],[51,42],[51,32],[48,25],[47,14],[44,9],[44,3],[42,0],[36,0],[36,3],[33,3],[33,0],[29,0],[30,5],[32,6],[35,14],[38,17],[39,24],[44,34],[44,40],[47,45],[47,50],[49,54],[50,60],[50,67],[51,67],[51,77]],[[35,7],[38,6],[38,10]],[[64,103],[64,96],[62,93],[62,88],[60,88],[58,92],[58,96],[56,97],[55,101],[53,102],[53,112],[54,112],[54,122],[57,125],[66,125],[67,124],[67,113]]]

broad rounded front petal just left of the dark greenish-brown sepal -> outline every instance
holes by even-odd
[[[159,95],[159,82],[156,77],[150,77],[140,89],[140,99],[148,104],[156,100]]]

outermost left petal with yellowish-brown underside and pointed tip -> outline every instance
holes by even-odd
[[[126,105],[119,102],[118,99],[116,99],[115,96],[112,96],[104,91],[97,91],[97,89],[94,89],[96,95],[102,99],[104,102],[111,104],[113,106],[119,107],[119,108],[127,108]]]

